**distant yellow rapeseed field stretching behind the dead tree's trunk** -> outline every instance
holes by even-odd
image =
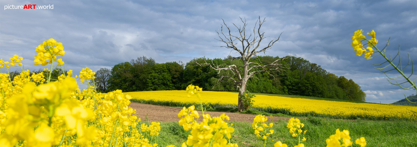
[[[184,97],[187,94],[186,91],[140,91],[126,92],[125,94],[131,95],[133,99],[145,101],[172,102],[176,104],[200,103],[200,100],[195,97]],[[237,99],[237,93],[201,92],[201,101],[203,103],[237,105]],[[324,101],[267,95],[256,95],[253,100],[255,101],[253,107],[256,109],[299,116],[311,114],[313,116],[347,119],[417,119],[417,115],[409,111],[417,111],[417,108],[413,106]]]

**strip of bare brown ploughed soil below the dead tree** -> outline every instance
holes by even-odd
[[[136,109],[136,116],[141,118],[141,121],[148,122],[178,122],[180,120],[178,118],[178,112],[180,112],[182,109],[176,107],[157,106],[141,103],[131,103],[129,104],[129,106],[131,106],[133,109]],[[206,112],[206,114],[210,114],[211,117],[218,117],[223,113],[230,117],[229,122],[253,122],[256,116],[254,114],[241,114],[231,112]],[[198,114],[201,115],[201,111],[198,111]],[[273,119],[288,120],[290,119],[290,117],[274,117]],[[268,121],[271,120],[271,117],[268,116]]]

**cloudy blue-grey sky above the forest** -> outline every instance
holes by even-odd
[[[20,5],[36,9],[13,9]],[[390,38],[387,54],[396,55],[400,45],[403,66],[407,53],[417,61],[417,0],[1,0],[0,6],[0,58],[8,61],[17,54],[31,71],[45,68],[35,66],[33,57],[35,48],[49,38],[63,44],[64,67],[74,74],[85,67],[111,69],[141,56],[158,63],[234,56],[230,49],[217,47],[225,44],[216,40],[216,30],[223,20],[229,26],[243,25],[240,18],[253,28],[260,17],[266,20],[261,27],[265,40],[282,33],[260,56],[291,55],[317,63],[353,79],[367,94],[367,102],[390,104],[404,94],[416,94],[389,84],[374,68],[372,63],[384,62],[382,56],[356,56],[350,43],[354,31],[363,29],[366,35],[374,30],[379,48]],[[396,71],[387,74],[399,76]]]

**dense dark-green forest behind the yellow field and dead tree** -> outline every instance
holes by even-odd
[[[279,57],[258,56],[251,62],[261,65],[272,63]],[[228,58],[195,58],[188,63],[156,63],[153,58],[145,56],[132,59],[131,62],[119,63],[113,68],[101,68],[96,81],[98,89],[103,92],[121,89],[128,91],[183,90],[189,84],[197,85],[206,91],[238,91],[233,81],[218,82],[221,75],[233,73],[220,72],[198,63],[220,65],[232,63],[243,65],[241,61]],[[286,66],[282,71],[257,73],[248,81],[247,90],[252,93],[291,94],[301,96],[345,98],[365,101],[366,94],[352,79],[336,76],[327,72],[320,65],[294,56],[287,56],[281,61]],[[102,75],[101,77],[99,75]],[[106,77],[103,77],[106,76]]]

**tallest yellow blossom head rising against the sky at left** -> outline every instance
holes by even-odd
[[[35,65],[40,64],[45,66],[46,64],[52,63],[52,61],[57,61],[58,66],[63,65],[64,62],[62,61],[62,58],[56,59],[57,56],[64,56],[65,51],[63,50],[64,47],[62,46],[62,43],[56,42],[53,38],[43,41],[43,43],[36,48],[36,53],[38,53],[38,55],[35,56]]]

